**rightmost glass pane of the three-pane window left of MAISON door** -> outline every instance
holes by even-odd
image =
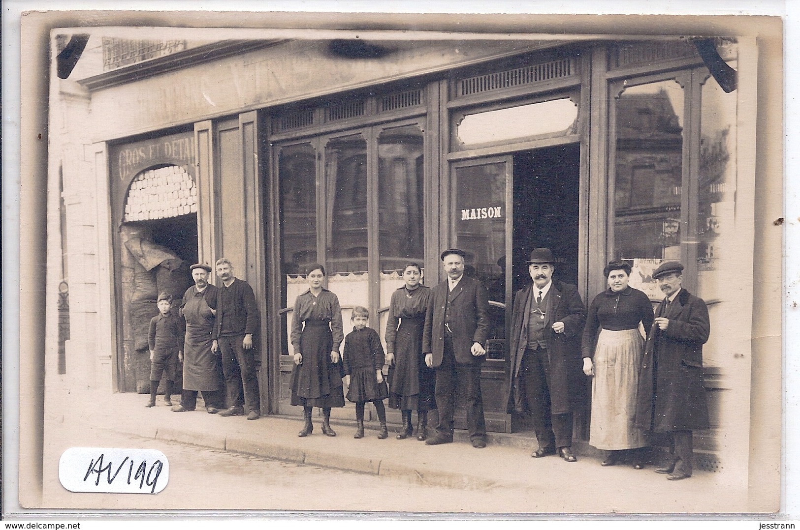
[[[422,263],[422,130],[384,130],[378,137],[378,250],[385,273]]]

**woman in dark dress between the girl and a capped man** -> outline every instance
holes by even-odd
[[[399,408],[402,430],[398,440],[411,436],[411,411],[417,411],[417,440],[425,440],[428,411],[436,408],[436,372],[425,364],[422,328],[430,288],[420,285],[422,269],[416,263],[403,268],[406,281],[392,293],[386,321],[386,364],[389,365],[389,406]]]

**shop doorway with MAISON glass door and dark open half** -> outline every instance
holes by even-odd
[[[542,246],[553,251],[555,277],[578,284],[580,157],[580,144],[570,143],[451,165],[450,241],[467,254],[465,274],[477,277],[489,292],[488,353],[481,375],[487,430],[530,430],[526,418],[506,412],[513,297],[530,283],[530,251]],[[463,420],[459,412],[457,428]]]

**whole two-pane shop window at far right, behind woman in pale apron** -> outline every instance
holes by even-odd
[[[653,299],[661,293],[650,273],[665,260],[686,267],[688,289],[717,298],[702,273],[718,267],[733,225],[736,95],[699,67],[618,80],[611,96],[610,257],[629,260],[632,285]]]

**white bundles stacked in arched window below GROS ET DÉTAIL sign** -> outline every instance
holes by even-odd
[[[130,183],[125,221],[178,217],[198,211],[198,189],[186,169],[167,165],[147,169]]]

